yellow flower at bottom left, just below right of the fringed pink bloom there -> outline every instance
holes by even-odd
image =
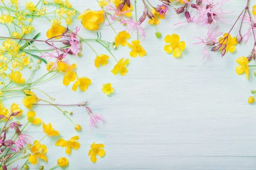
[[[44,144],[40,144],[37,140],[34,141],[34,145],[30,149],[31,155],[29,156],[29,162],[31,164],[37,163],[37,157],[47,161],[45,154],[47,153],[47,147]]]

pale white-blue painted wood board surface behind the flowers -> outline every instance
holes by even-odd
[[[157,4],[158,1],[151,0]],[[154,2],[153,2],[154,1]],[[195,1],[195,0],[194,0]],[[37,2],[33,0],[32,2]],[[134,3],[131,0],[132,4]],[[20,0],[20,5],[25,2]],[[79,11],[87,8],[100,9],[96,0],[70,0],[70,3]],[[233,14],[226,15],[231,24],[245,6],[245,0],[231,0],[223,8],[233,10]],[[256,4],[251,0],[250,7]],[[73,111],[71,116],[75,123],[82,126],[81,132],[74,130],[71,122],[60,111],[52,106],[36,106],[37,116],[48,123],[51,122],[55,130],[60,131],[64,139],[79,135],[81,143],[79,150],[72,150],[70,156],[65,149],[54,146],[59,136],[47,136],[41,143],[48,148],[47,163],[38,159],[37,165],[30,169],[36,170],[40,165],[46,169],[54,166],[59,157],[69,160],[68,170],[254,170],[256,169],[256,118],[255,105],[247,104],[250,90],[255,88],[254,70],[250,69],[250,79],[245,75],[239,76],[235,72],[235,59],[242,55],[247,56],[252,48],[252,41],[246,45],[237,45],[236,52],[227,53],[223,58],[219,52],[209,52],[207,62],[201,61],[201,45],[193,37],[205,37],[207,28],[194,25],[174,26],[174,23],[184,20],[177,16],[174,4],[170,7],[165,20],[157,25],[162,37],[154,36],[155,28],[147,22],[143,23],[147,36],[142,45],[147,52],[145,57],[132,58],[130,49],[119,47],[113,50],[117,59],[129,58],[128,73],[121,77],[113,75],[111,69],[115,61],[111,58],[106,66],[95,68],[93,60],[96,55],[84,45],[82,57],[69,56],[70,63],[75,62],[79,76],[87,76],[92,84],[85,92],[72,91],[72,85],[62,85],[62,76],[59,75],[49,82],[35,87],[46,91],[55,97],[56,104],[76,104],[89,101],[88,106],[93,113],[101,113],[106,122],[97,128],[89,129],[89,116],[84,108],[63,108]],[[140,0],[137,1],[138,16],[143,11]],[[54,8],[49,7],[47,11]],[[134,11],[133,11],[134,14]],[[134,15],[133,15],[134,16]],[[64,22],[63,22],[64,23]],[[81,25],[79,20],[70,26],[74,29]],[[44,17],[35,20],[33,35],[42,32],[40,39],[46,38],[46,31],[50,27]],[[247,30],[244,24],[243,31]],[[116,31],[124,30],[119,23],[114,23]],[[228,32],[231,26],[221,23],[218,29]],[[3,28],[3,29],[2,29]],[[114,32],[110,26],[101,26],[98,30],[102,39],[113,41]],[[238,26],[231,32],[236,36]],[[7,33],[1,27],[1,35]],[[163,51],[166,44],[163,38],[166,34],[179,34],[180,40],[186,42],[186,48],[180,58],[174,58]],[[87,31],[81,27],[79,34],[82,37],[96,38],[94,31]],[[31,35],[32,37],[32,35]],[[131,40],[136,39],[133,32]],[[37,43],[38,44],[38,43]],[[47,46],[40,45],[40,49]],[[96,43],[91,45],[99,54],[108,52]],[[111,55],[109,54],[111,57]],[[253,65],[253,64],[252,64]],[[30,75],[32,70],[27,70]],[[39,71],[38,71],[39,72]],[[44,74],[46,69],[41,64],[38,74]],[[111,82],[114,88],[112,96],[102,93],[102,84]],[[35,91],[42,99],[44,94]],[[5,104],[17,102],[24,109],[25,124],[26,109],[21,103],[23,97],[4,99]],[[41,125],[28,125],[24,131],[41,139],[44,135]],[[90,144],[93,142],[105,144],[106,155],[98,158],[96,164],[87,156]],[[24,160],[25,161],[25,160]],[[20,161],[23,164],[24,161]],[[57,168],[60,169],[60,168]]]

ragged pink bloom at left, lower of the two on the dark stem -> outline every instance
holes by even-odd
[[[50,70],[52,70],[53,68],[56,67],[58,61],[65,62],[65,61],[62,61],[62,59],[67,57],[67,54],[68,54],[68,51],[65,54],[63,54],[63,53],[60,54],[59,48],[57,49],[54,46],[53,42],[52,42],[52,49],[54,49],[55,51],[52,50],[52,53],[45,52],[42,56],[39,56],[39,57],[50,57],[50,59],[51,58],[55,58],[56,59],[55,62],[53,63],[53,65],[52,65],[52,67],[50,68]],[[67,62],[65,62],[65,63],[67,63]]]

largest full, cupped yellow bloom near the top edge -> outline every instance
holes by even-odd
[[[99,24],[104,20],[104,11],[92,11],[87,9],[84,13],[81,13],[77,19],[81,19],[81,23],[84,28],[88,30],[96,30],[99,28]]]

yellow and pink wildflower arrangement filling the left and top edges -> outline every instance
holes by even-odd
[[[35,4],[26,1],[25,8],[19,6],[18,0],[0,0],[0,24],[9,32],[9,35],[5,36],[0,34],[2,43],[0,48],[0,122],[4,124],[0,129],[0,168],[3,170],[10,168],[12,170],[27,170],[29,164],[37,164],[38,159],[47,161],[47,146],[43,144],[43,139],[45,137],[61,136],[58,129],[53,128],[55,125],[52,126],[48,120],[41,120],[40,113],[36,114],[33,111],[35,105],[41,108],[44,105],[57,108],[60,114],[70,120],[74,130],[81,130],[81,125],[73,122],[70,117],[73,112],[63,110],[64,107],[80,107],[86,110],[89,115],[89,128],[94,128],[100,122],[105,121],[104,116],[91,111],[87,101],[78,104],[56,104],[53,102],[55,98],[49,96],[45,89],[36,88],[36,85],[60,76],[64,86],[71,84],[69,89],[72,91],[78,89],[81,92],[90,90],[93,79],[87,77],[86,74],[81,75],[83,71],[80,72],[76,68],[76,63],[70,63],[68,60],[70,57],[82,57],[85,46],[95,53],[93,64],[99,71],[104,66],[109,68],[109,74],[125,76],[128,73],[130,63],[127,56],[134,58],[137,56],[144,57],[147,54],[143,48],[146,32],[142,23],[146,21],[149,25],[154,25],[156,29],[155,36],[159,38],[161,33],[157,31],[157,25],[166,18],[168,10],[175,10],[178,15],[184,15],[184,21],[175,23],[175,25],[196,23],[208,28],[205,38],[195,37],[200,40],[195,44],[202,44],[203,51],[201,53],[204,53],[206,59],[209,57],[209,46],[213,46],[211,51],[219,51],[221,57],[224,57],[227,52],[233,53],[237,44],[245,43],[252,32],[254,38],[252,51],[249,55],[246,54],[247,57],[242,56],[236,59],[239,64],[236,67],[236,73],[239,75],[245,73],[248,79],[249,67],[256,66],[248,65],[248,62],[252,59],[255,60],[256,56],[254,33],[256,28],[256,6],[250,9],[250,0],[244,2],[244,7],[241,8],[237,20],[230,30],[224,34],[217,32],[217,30],[220,27],[218,23],[227,22],[223,14],[232,12],[224,11],[221,8],[221,5],[228,2],[228,0],[218,2],[214,0],[158,0],[158,4],[155,6],[151,2],[153,0],[141,0],[144,10],[139,11],[140,16],[137,16],[137,0],[96,1],[99,3],[99,8],[78,11],[73,8],[68,0],[38,0]],[[49,6],[53,6],[55,9],[48,11]],[[173,9],[171,6],[175,8]],[[39,18],[51,25],[48,30],[38,32],[37,30],[40,29],[35,29],[36,25],[33,25],[33,21],[39,20]],[[79,20],[81,24],[74,25],[74,20]],[[116,32],[112,26],[113,22],[124,25],[125,29]],[[97,32],[104,23],[111,27],[115,33],[113,42],[102,40],[101,33]],[[242,34],[241,28],[244,23],[248,23],[249,27]],[[239,32],[236,37],[233,37],[230,33],[237,24],[239,24]],[[82,37],[81,29],[90,30],[96,38]],[[137,34],[137,39],[130,39],[132,32]],[[47,38],[42,39],[42,34]],[[94,49],[91,42],[101,45],[102,49],[108,51],[108,54],[98,52],[101,49]],[[166,44],[163,51],[167,53],[166,55],[172,54],[173,57],[180,57],[182,51],[186,48],[183,37],[175,33],[165,35],[164,42]],[[119,48],[130,48],[131,51],[126,56],[116,58],[111,51],[119,50]],[[108,61],[110,59],[113,59],[116,64],[109,66]],[[29,75],[24,70],[29,70]],[[113,85],[113,87],[116,87],[116,85]],[[110,82],[104,83],[101,90],[103,94],[108,96],[114,93]],[[38,91],[43,93],[47,99],[39,98]],[[256,91],[252,90],[251,93],[255,95],[249,97],[249,103],[255,101]],[[10,108],[6,108],[6,103],[2,101],[9,96],[19,98],[22,104],[12,103]],[[58,101],[58,103],[61,102]],[[15,117],[25,113],[27,119],[25,125],[15,121]],[[44,135],[41,139],[33,139],[32,136],[24,133],[24,129],[30,123],[42,125],[42,134]],[[70,136],[70,139],[59,137],[55,145],[65,147],[65,152],[70,155],[71,150],[75,152],[80,147],[79,136]],[[100,157],[105,155],[103,147],[104,144],[95,144],[94,142],[88,148],[88,156],[90,156],[92,162],[96,162],[97,155]],[[17,161],[20,162],[20,160],[24,160],[23,164],[17,164]],[[66,157],[61,157],[56,162],[57,164],[50,170],[69,165]],[[43,170],[44,166],[38,164],[38,169]]]

